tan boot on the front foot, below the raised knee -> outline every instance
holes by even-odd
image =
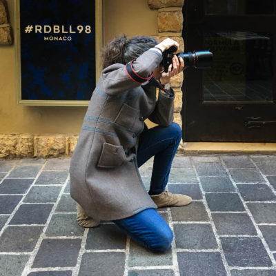
[[[165,190],[159,195],[150,195],[151,199],[155,201],[158,208],[168,206],[185,206],[192,202],[192,198],[188,195],[172,194]]]

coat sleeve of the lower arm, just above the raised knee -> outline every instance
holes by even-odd
[[[153,110],[148,117],[150,121],[159,126],[169,126],[173,121],[175,92],[173,92],[172,88],[170,88],[170,91],[172,92],[173,97],[167,97],[159,91],[155,110]]]

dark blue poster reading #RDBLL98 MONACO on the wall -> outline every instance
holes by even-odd
[[[87,101],[95,88],[95,1],[20,0],[21,99]]]

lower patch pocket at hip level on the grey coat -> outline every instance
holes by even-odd
[[[101,150],[101,156],[97,164],[99,168],[119,167],[124,161],[126,161],[126,154],[122,146],[103,143],[103,149]]]

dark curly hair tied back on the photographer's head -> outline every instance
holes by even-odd
[[[103,69],[114,63],[126,64],[157,44],[158,41],[153,37],[142,35],[131,39],[128,39],[125,34],[115,37],[101,52]]]

